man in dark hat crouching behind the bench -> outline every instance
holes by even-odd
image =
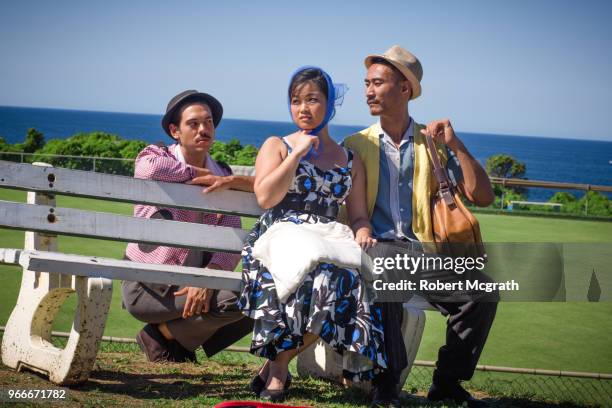
[[[209,150],[223,116],[213,96],[188,90],[170,100],[162,128],[176,143],[150,145],[136,158],[134,176],[204,184],[210,192],[233,188],[253,191],[253,177],[234,176]],[[136,205],[134,216],[240,228],[240,218],[200,211]],[[170,232],[171,233],[171,232]],[[233,271],[240,255],[130,243],[125,256],[136,262],[207,267]],[[202,346],[211,356],[252,331],[252,321],[236,308],[230,291],[197,287],[122,283],[124,307],[147,324],[136,336],[149,361],[195,361]]]

